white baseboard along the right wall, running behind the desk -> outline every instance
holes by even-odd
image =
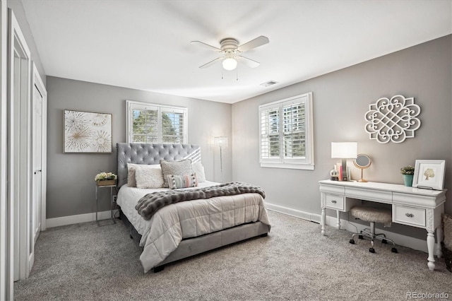
[[[266,203],[266,207],[268,208],[268,210],[271,210],[271,211],[276,211],[279,213],[287,214],[288,216],[295,216],[296,218],[302,218],[304,220],[309,220],[312,222],[320,223],[320,214],[299,211],[296,209],[275,205],[273,203]],[[326,225],[330,225],[335,228],[337,220],[338,219],[335,218],[334,216],[326,216],[325,223],[326,223]],[[359,223],[352,223],[352,222],[349,222],[348,220],[343,220],[343,219],[340,220],[340,229],[342,229],[342,230],[347,230],[349,232],[359,232],[365,228],[369,228],[369,225],[366,226],[366,225],[361,225]],[[379,228],[375,228],[375,231],[378,233],[384,233],[386,235],[386,237],[388,237],[388,239],[393,240],[399,246],[409,247],[411,249],[415,249],[418,251],[428,253],[426,240],[420,240],[415,237],[400,235],[400,234],[394,233],[394,232],[387,232],[387,231],[379,229]],[[328,230],[326,231],[326,234],[328,235]],[[319,235],[321,235],[320,234],[320,225],[319,225]],[[425,233],[425,237],[427,239],[427,232]],[[436,254],[436,244],[435,244],[435,248],[434,248],[434,254]]]

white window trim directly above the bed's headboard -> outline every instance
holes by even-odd
[[[133,117],[132,112],[136,108],[146,108],[146,107],[152,107],[157,108],[158,110],[158,119],[159,119],[159,132],[158,132],[158,141],[155,141],[153,143],[170,143],[162,141],[162,131],[160,129],[161,126],[161,111],[162,110],[174,110],[184,113],[184,136],[182,143],[187,143],[188,136],[189,136],[189,129],[188,129],[188,116],[189,116],[189,110],[187,107],[178,107],[175,105],[159,105],[155,103],[150,102],[139,102],[134,100],[126,100],[126,142],[131,143],[132,136],[133,136]]]

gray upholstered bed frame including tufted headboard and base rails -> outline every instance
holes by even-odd
[[[153,165],[160,164],[161,159],[168,161],[191,159],[192,162],[201,162],[201,148],[195,144],[117,143],[118,188],[127,182],[127,163]],[[141,235],[121,210],[120,216],[129,229],[131,238],[139,244]],[[227,244],[248,240],[251,237],[265,237],[269,231],[268,225],[258,221],[182,240],[179,247],[155,266],[153,271],[162,271],[165,264],[224,247]]]

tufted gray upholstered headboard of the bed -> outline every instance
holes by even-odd
[[[201,161],[201,148],[196,144],[117,143],[118,188],[127,183],[127,163],[160,164],[160,159]]]

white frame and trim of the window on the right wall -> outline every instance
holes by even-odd
[[[284,143],[283,143],[283,107],[288,102],[294,102],[299,98],[306,98],[302,100],[305,103],[305,126],[306,126],[306,156],[299,162],[300,159],[284,158]],[[279,136],[280,136],[280,158],[262,158],[262,134],[261,134],[261,115],[263,110],[270,108],[279,108]],[[275,102],[269,102],[259,106],[258,110],[258,131],[259,131],[259,163],[261,167],[273,167],[273,168],[287,168],[297,170],[314,170],[314,126],[313,126],[313,113],[312,113],[312,92],[296,95],[283,100],[277,100]],[[297,162],[298,161],[298,162]]]

